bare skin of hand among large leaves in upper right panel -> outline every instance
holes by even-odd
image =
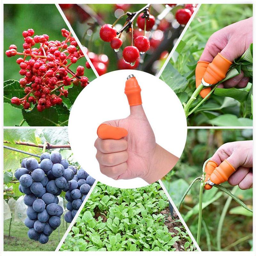
[[[252,17],[233,23],[213,33],[208,39],[199,61],[204,61],[202,65],[207,67],[220,52],[224,58],[233,62],[248,49],[250,44],[252,44]],[[241,71],[241,74],[225,81],[218,87],[231,88],[236,86],[244,88],[248,82],[249,77],[244,77],[244,73]],[[203,90],[206,92],[211,89],[205,88]]]

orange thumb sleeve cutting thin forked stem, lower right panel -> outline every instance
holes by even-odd
[[[218,167],[214,169],[210,175],[210,180],[214,184],[220,184],[228,180],[229,176],[235,172],[236,169],[225,159]]]

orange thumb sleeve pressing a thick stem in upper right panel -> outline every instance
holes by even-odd
[[[224,58],[219,52],[206,68],[203,76],[204,81],[208,84],[217,84],[226,77],[231,64],[232,62]]]

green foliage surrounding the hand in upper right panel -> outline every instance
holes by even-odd
[[[195,91],[196,63],[209,37],[229,24],[252,16],[252,5],[242,6],[202,4],[192,20],[160,77],[176,92],[184,106]],[[197,96],[186,113],[188,125],[252,126],[252,45],[235,60],[223,81],[240,74],[241,70],[245,76],[251,77],[247,87],[215,88],[210,98]],[[231,98],[234,99],[232,105],[226,104]]]

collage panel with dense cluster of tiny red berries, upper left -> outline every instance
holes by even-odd
[[[96,75],[67,28],[55,4],[4,4],[4,126],[68,125]]]

